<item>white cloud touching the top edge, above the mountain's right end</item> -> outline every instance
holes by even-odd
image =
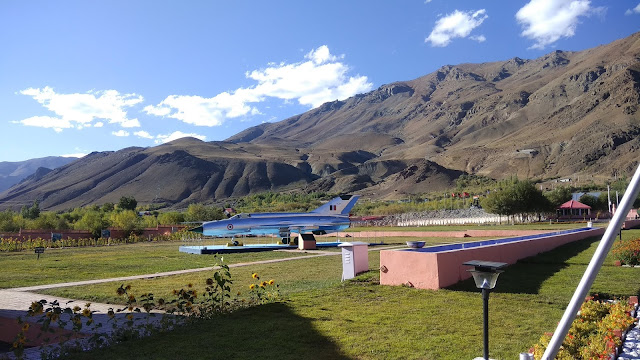
[[[516,13],[524,30],[521,35],[535,41],[532,48],[544,49],[562,37],[572,37],[581,16],[604,11],[590,0],[531,0]]]

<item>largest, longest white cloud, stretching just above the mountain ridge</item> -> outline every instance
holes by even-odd
[[[269,64],[269,67],[247,72],[256,84],[223,92],[211,98],[193,95],[170,95],[156,106],[147,106],[149,115],[166,116],[198,126],[219,126],[225,121],[260,114],[253,104],[267,98],[297,101],[317,107],[327,101],[341,100],[369,91],[373,84],[366,76],[347,76],[350,68],[341,62],[344,56],[332,55],[322,45],[293,64]]]

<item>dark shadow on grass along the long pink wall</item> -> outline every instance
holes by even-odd
[[[556,276],[561,271],[573,265],[586,267],[593,251],[587,251],[600,241],[600,237],[576,241],[546,253],[519,260],[510,265],[500,274],[498,285],[493,292],[513,294],[539,294],[542,284]],[[481,260],[481,259],[479,259]],[[581,276],[581,275],[580,275]],[[578,278],[578,281],[580,278]],[[566,287],[575,289],[578,281],[566,284]],[[461,281],[448,287],[453,291],[478,291],[473,279]]]

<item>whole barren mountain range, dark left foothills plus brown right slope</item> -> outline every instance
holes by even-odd
[[[604,178],[638,164],[639,106],[637,33],[534,60],[443,66],[224,142],[93,153],[0,194],[0,206],[122,195],[184,206],[290,189],[393,198],[445,189],[465,172]]]

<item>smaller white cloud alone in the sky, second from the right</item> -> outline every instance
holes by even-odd
[[[431,34],[429,34],[429,37],[424,41],[431,43],[431,46],[447,46],[452,39],[466,38],[469,36],[471,31],[482,25],[482,22],[486,20],[487,17],[488,15],[485,9],[468,12],[455,10],[453,13],[438,19]],[[484,36],[482,38],[484,38]]]

